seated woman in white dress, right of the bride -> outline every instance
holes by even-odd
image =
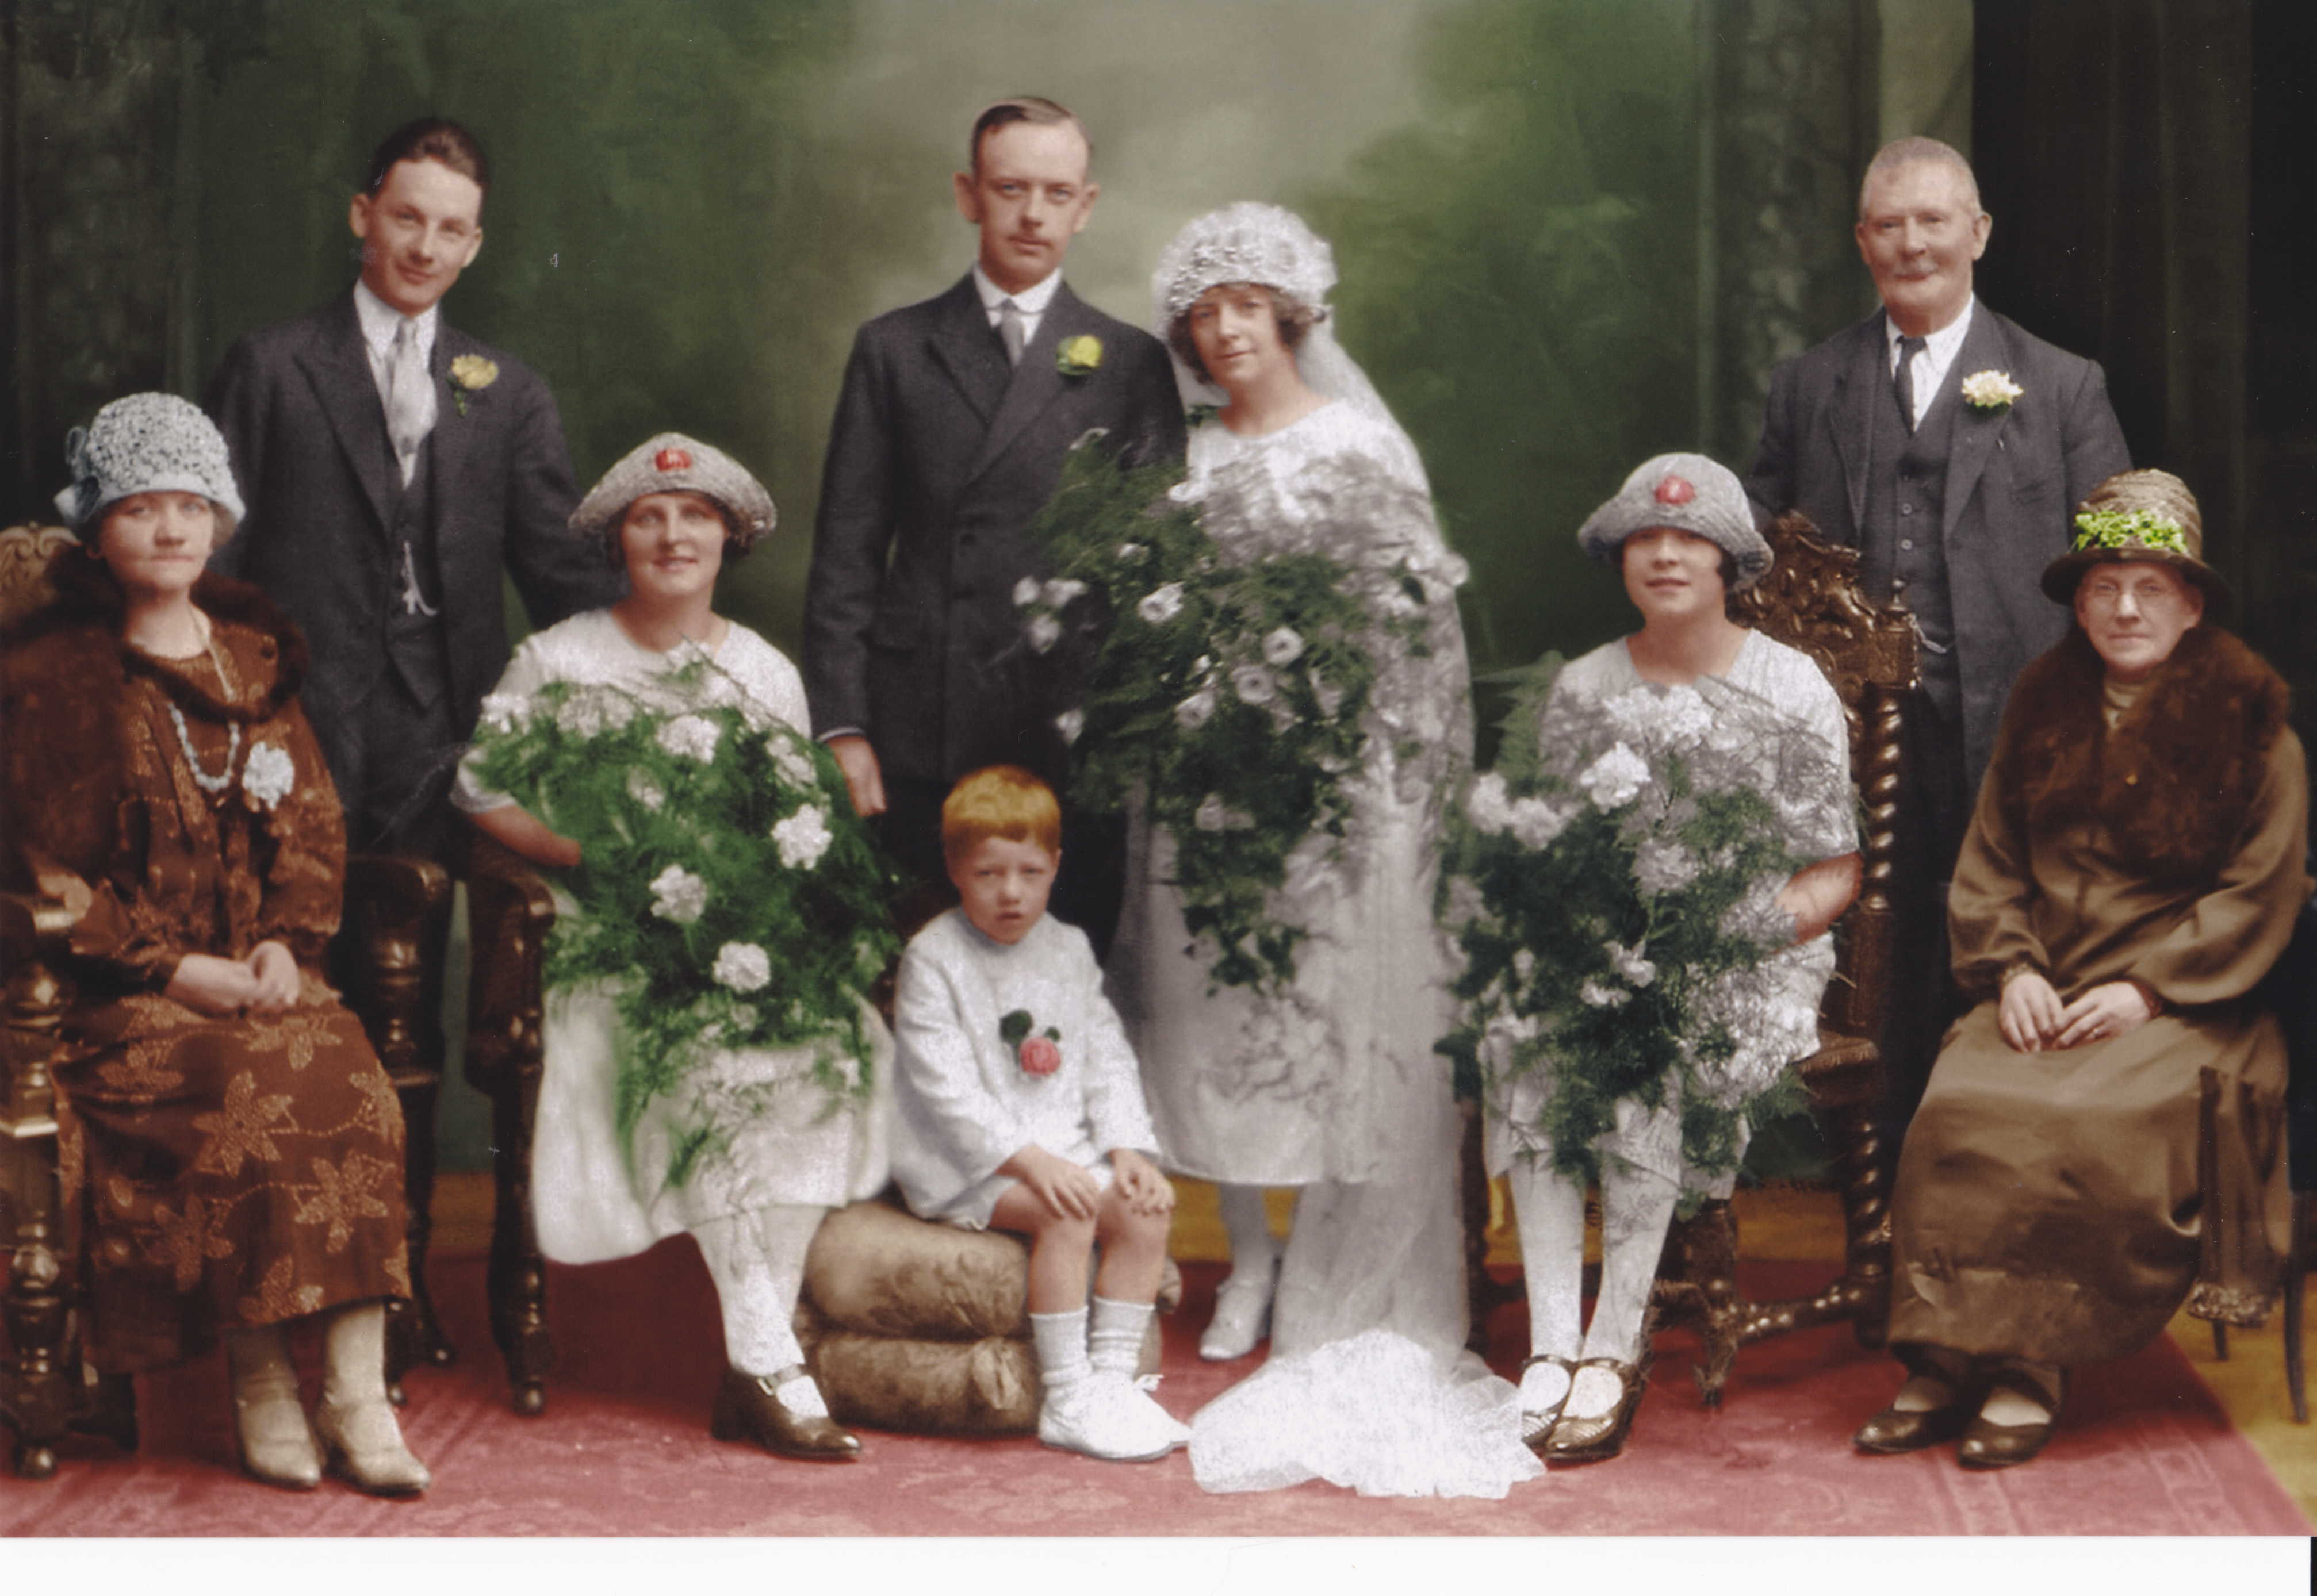
[[[1583,771],[1564,785],[1589,790],[1592,806],[1617,811],[1617,801],[1587,788],[1608,762],[1594,764],[1596,755],[1631,757],[1631,748],[1654,748],[1657,727],[1687,713],[1701,725],[1691,727],[1698,746],[1687,757],[1684,785],[1696,785],[1684,801],[1701,801],[1715,785],[1712,771],[1726,771],[1726,790],[1770,799],[1775,820],[1768,825],[1782,834],[1779,855],[1807,864],[1791,878],[1770,876],[1754,887],[1768,896],[1775,885],[1763,917],[1779,936],[1761,940],[1786,945],[1747,968],[1733,964],[1735,973],[1712,975],[1694,998],[1684,998],[1726,1028],[1726,1052],[1694,1045],[1708,1028],[1696,1024],[1691,1035],[1673,1038],[1675,1045],[1661,1049],[1671,1068],[1643,1082],[1608,1075],[1627,1070],[1629,1054],[1645,1049],[1633,1028],[1664,1024],[1666,1010],[1657,1003],[1668,987],[1682,987],[1680,973],[1659,978],[1647,964],[1650,947],[1636,938],[1633,950],[1620,950],[1631,991],[1620,984],[1583,998],[1606,1015],[1601,1024],[1610,1028],[1608,1038],[1594,1040],[1631,1047],[1555,1047],[1552,1038],[1566,1035],[1569,1022],[1562,1019],[1559,1028],[1545,1026],[1545,1035],[1525,1031],[1525,1068],[1508,1070],[1501,1059],[1494,1061],[1490,1172],[1511,1177],[1529,1290],[1522,1434],[1548,1464],[1599,1462],[1624,1448],[1645,1376],[1643,1318],[1675,1202],[1684,1186],[1728,1195],[1745,1151],[1747,1103],[1817,1047],[1819,998],[1835,968],[1828,927],[1858,892],[1842,702],[1810,656],[1733,623],[1724,609],[1731,588],[1752,586],[1770,570],[1770,547],[1754,530],[1738,477],[1703,454],[1661,454],[1624,479],[1617,496],[1585,521],[1578,542],[1622,570],[1643,625],[1559,672],[1534,727],[1538,764],[1545,771]],[[1708,751],[1717,746],[1724,757],[1712,764]],[[1659,778],[1659,769],[1652,767],[1647,778]],[[1631,783],[1643,781],[1633,767]],[[1476,825],[1504,829],[1481,818],[1478,799],[1476,792]],[[1522,799],[1532,801],[1541,799]],[[1518,815],[1511,829],[1520,829]],[[1557,832],[1552,825],[1543,829]],[[1569,829],[1541,841],[1548,850],[1571,848],[1585,845],[1585,834]],[[1571,913],[1566,899],[1555,913]],[[1664,945],[1671,938],[1654,936],[1664,929],[1652,913],[1657,961],[1668,957]],[[1555,957],[1550,947],[1543,954]],[[1636,1001],[1652,984],[1657,991]],[[1550,1001],[1543,1012],[1552,1012]],[[1587,1110],[1569,1112],[1571,1089],[1589,1096]],[[1724,1130],[1710,1156],[1696,1147],[1701,1110],[1717,1112]],[[1587,1147],[1555,1147],[1550,1128],[1571,1123],[1594,1130]],[[1601,1184],[1601,1293],[1589,1327],[1578,1323],[1583,1167],[1596,1170]]]

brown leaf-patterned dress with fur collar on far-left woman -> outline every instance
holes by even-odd
[[[0,656],[0,869],[79,910],[58,1121],[86,1344],[148,1369],[220,1330],[408,1295],[403,1119],[320,975],[345,822],[297,704],[304,642],[255,588],[204,577],[211,651],[153,660],[83,563],[60,558],[65,598]],[[165,996],[181,957],[262,940],[299,961],[294,1008]]]

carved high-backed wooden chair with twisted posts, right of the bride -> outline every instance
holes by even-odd
[[[1865,808],[1865,880],[1837,931],[1835,980],[1819,1015],[1819,1052],[1796,1070],[1812,1117],[1835,1154],[1844,1209],[1842,1274],[1810,1297],[1754,1302],[1738,1290],[1738,1216],[1705,1202],[1678,1221],[1659,1262],[1659,1327],[1694,1330],[1703,1346],[1698,1390],[1722,1401],[1738,1348],[1766,1337],[1849,1320],[1863,1346],[1881,1346],[1891,1309],[1891,1151],[1884,1126],[1884,1068],[1877,1035],[1888,1010],[1895,915],[1900,707],[1916,683],[1914,618],[1900,605],[1872,605],[1858,591],[1858,551],[1817,537],[1800,514],[1768,528],[1777,563],[1731,598],[1731,616],[1800,649],[1842,697],[1851,732],[1851,781]],[[1478,1110],[1467,1107],[1464,1237],[1474,1290],[1474,1337],[1494,1302],[1511,1295],[1490,1281],[1485,1258],[1488,1177],[1481,1167]]]

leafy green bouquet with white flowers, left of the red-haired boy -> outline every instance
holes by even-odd
[[[684,1184],[776,1091],[867,1096],[862,1001],[899,940],[832,755],[704,656],[670,686],[690,707],[565,681],[494,695],[475,746],[484,785],[582,845],[561,880],[582,913],[556,920],[547,984],[614,994],[623,1137],[663,1093],[704,1112],[674,1149]],[[732,1049],[795,1049],[795,1079],[732,1086]]]

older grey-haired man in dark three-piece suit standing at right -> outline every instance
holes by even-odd
[[[1900,957],[1884,1059],[1912,1112],[1946,1028],[1946,880],[2020,669],[2067,630],[2039,586],[2076,505],[2132,466],[2099,366],[1972,294],[1993,220],[1969,162],[1898,139],[1858,190],[1881,308],[1770,373],[1747,473],[1759,519],[1800,510],[1858,549],[1870,598],[1921,630],[1900,801]],[[1914,980],[1918,978],[1918,980]]]

